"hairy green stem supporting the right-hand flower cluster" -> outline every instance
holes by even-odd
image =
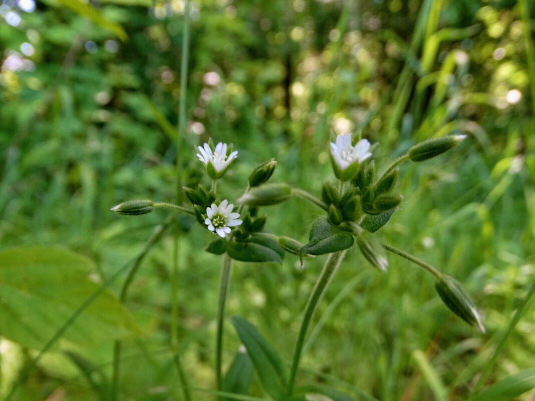
[[[310,294],[308,299],[307,306],[304,309],[303,320],[301,321],[301,327],[299,328],[299,334],[297,335],[297,341],[295,342],[294,356],[292,359],[292,367],[290,370],[290,375],[288,379],[288,385],[286,387],[286,396],[291,398],[294,391],[295,376],[297,374],[297,369],[299,368],[299,362],[301,360],[301,351],[303,350],[304,339],[307,336],[308,326],[310,325],[310,320],[316,306],[319,301],[322,299],[322,296],[327,288],[328,283],[331,281],[334,273],[337,271],[338,266],[346,255],[347,250],[340,252],[330,253],[325,264],[323,265],[322,273],[319,275],[318,281]]]

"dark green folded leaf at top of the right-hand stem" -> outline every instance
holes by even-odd
[[[301,248],[301,253],[324,255],[347,249],[354,242],[353,236],[331,226],[326,216],[320,216],[312,223],[309,243]]]

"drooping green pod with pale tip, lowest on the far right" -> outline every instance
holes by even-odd
[[[442,301],[453,313],[485,333],[481,317],[460,282],[452,276],[445,275],[435,283],[435,288]]]

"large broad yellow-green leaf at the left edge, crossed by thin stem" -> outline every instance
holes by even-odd
[[[25,246],[0,252],[0,335],[41,349],[74,311],[101,286],[89,279],[93,262],[72,251]],[[110,342],[139,331],[110,291],[65,331],[81,345]]]

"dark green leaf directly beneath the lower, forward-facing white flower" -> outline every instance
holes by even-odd
[[[282,263],[284,250],[271,236],[254,233],[250,242],[231,242],[226,244],[228,255],[242,262],[278,262]]]

